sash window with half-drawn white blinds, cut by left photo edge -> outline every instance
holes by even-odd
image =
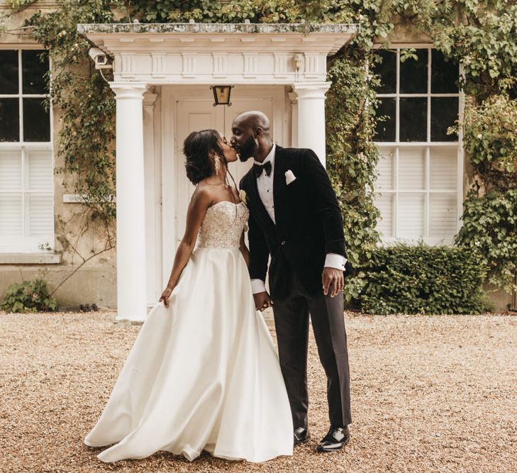
[[[54,244],[48,70],[43,50],[0,50],[0,252]]]

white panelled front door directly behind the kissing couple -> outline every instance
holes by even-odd
[[[189,201],[194,192],[194,185],[189,182],[185,173],[185,158],[183,155],[183,142],[189,133],[195,130],[206,130],[213,128],[218,130],[221,135],[226,136],[228,140],[231,137],[231,124],[233,118],[239,113],[247,110],[259,110],[265,113],[271,122],[273,121],[272,98],[266,99],[238,99],[232,101],[232,106],[216,106],[211,101],[192,101],[189,99],[177,101],[177,140],[176,140],[176,163],[175,163],[175,188],[176,188],[176,216],[175,216],[175,242],[176,247],[182,240],[185,225],[187,221],[187,208]],[[273,123],[271,123],[273,126]],[[229,170],[235,184],[239,185],[240,179],[248,172],[252,166],[252,160],[248,162],[232,162]],[[231,177],[228,176],[230,184]]]

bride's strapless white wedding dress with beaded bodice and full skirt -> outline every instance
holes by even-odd
[[[292,455],[293,424],[277,354],[255,311],[239,250],[240,203],[206,211],[199,245],[169,299],[150,311],[99,421],[84,439],[103,462],[202,450],[263,462]]]

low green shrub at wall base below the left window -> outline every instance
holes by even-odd
[[[48,292],[45,279],[11,284],[0,308],[7,312],[57,311],[57,302]]]

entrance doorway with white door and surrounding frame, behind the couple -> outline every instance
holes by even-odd
[[[236,86],[232,106],[213,106],[209,86],[162,87],[162,280],[167,281],[177,245],[182,240],[187,208],[194,185],[185,174],[183,142],[194,130],[213,128],[231,137],[233,118],[248,110],[265,113],[271,122],[272,138],[282,146],[291,144],[291,104],[286,111],[284,86]],[[248,162],[230,164],[238,185],[252,166]],[[230,181],[231,182],[231,181]]]

